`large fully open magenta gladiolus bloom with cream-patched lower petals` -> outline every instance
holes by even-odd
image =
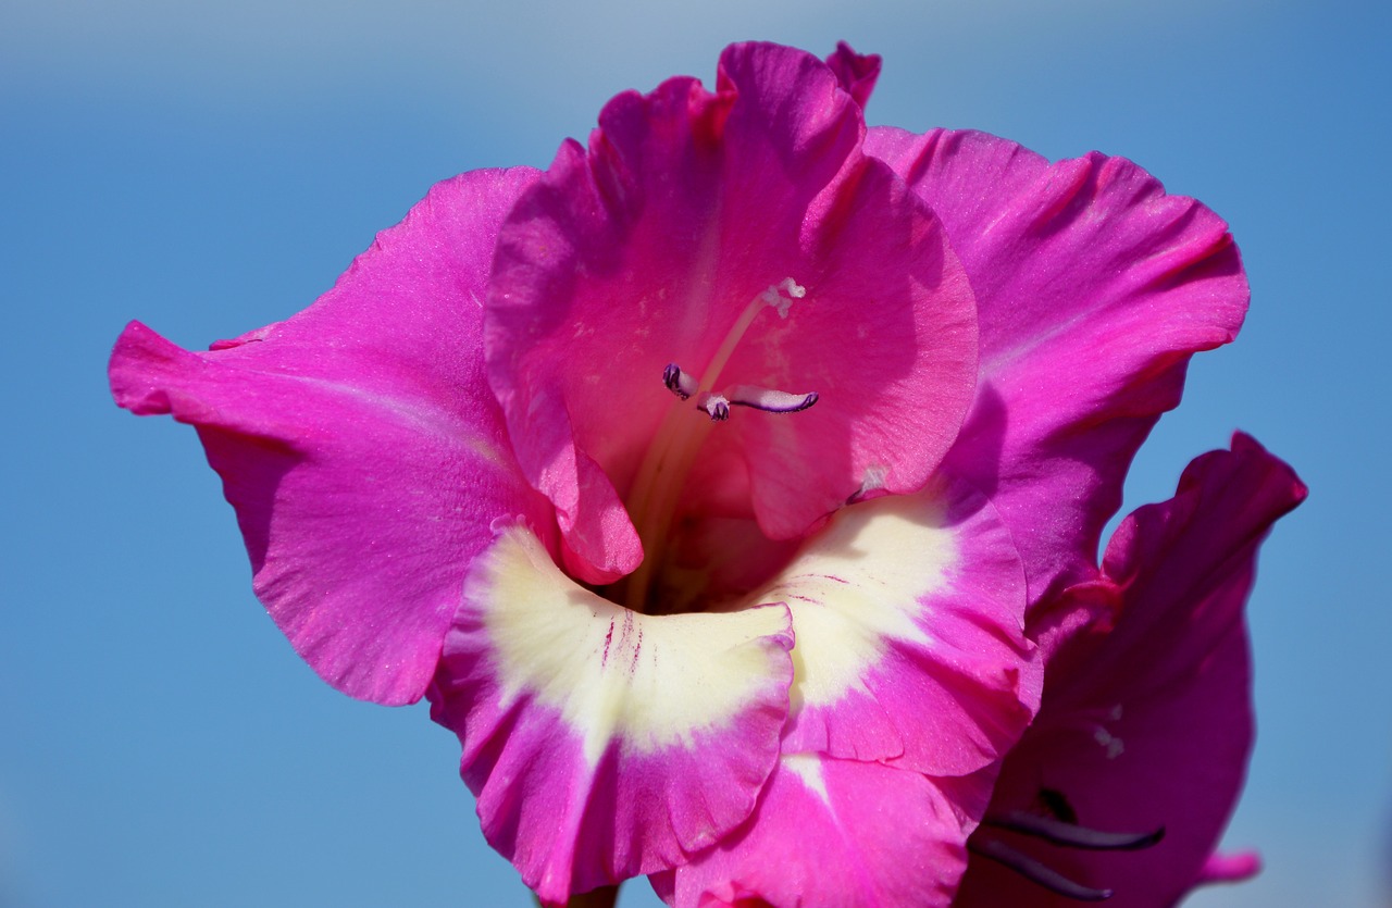
[[[732,46],[544,173],[434,187],[287,322],[117,341],[117,402],[198,426],[296,650],[430,699],[546,904],[947,905],[1041,653],[1101,613],[1038,628],[1171,592],[1094,553],[1240,326],[1226,226],[1125,160],[867,130],[877,75]]]

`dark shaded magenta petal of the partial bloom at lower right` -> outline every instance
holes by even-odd
[[[1100,621],[1050,663],[1040,716],[1005,760],[988,812],[1058,816],[1066,804],[1082,826],[1164,827],[1164,840],[1141,851],[1086,852],[990,826],[979,836],[1115,890],[1108,905],[1171,905],[1208,879],[1251,748],[1242,611],[1257,546],[1304,493],[1289,467],[1237,435],[1231,453],[1196,460],[1172,500],[1122,522],[1102,581],[1119,604],[1115,627]],[[1097,589],[1075,588],[1062,607],[1075,596],[1084,609],[1100,599]],[[1076,902],[974,856],[959,904]]]

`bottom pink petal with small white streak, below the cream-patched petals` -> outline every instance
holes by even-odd
[[[919,773],[784,756],[754,819],[686,866],[656,875],[674,908],[934,908],[966,869],[966,831]]]

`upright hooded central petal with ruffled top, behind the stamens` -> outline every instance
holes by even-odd
[[[639,535],[661,536],[651,512],[709,512],[731,478],[748,493],[727,515],[777,539],[867,478],[915,490],[941,460],[976,376],[972,294],[937,220],[860,155],[863,131],[824,63],[738,45],[715,93],[682,78],[615,97],[589,149],[562,146],[523,194],[498,244],[489,376],[575,575],[631,571]],[[664,386],[671,363],[696,400]],[[715,426],[697,409],[742,386],[818,398]]]

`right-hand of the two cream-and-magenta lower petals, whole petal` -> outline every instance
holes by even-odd
[[[960,485],[839,511],[756,597],[788,603],[798,635],[785,752],[965,776],[1038,707],[1019,554]]]

